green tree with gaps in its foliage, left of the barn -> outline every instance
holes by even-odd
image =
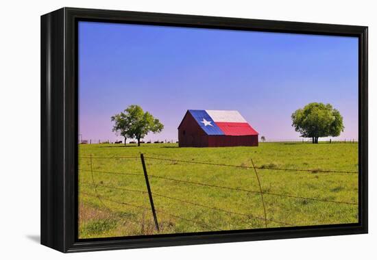
[[[130,105],[120,114],[112,116],[111,120],[114,122],[112,131],[119,132],[124,137],[124,144],[127,138],[136,138],[140,146],[140,140],[147,133],[160,133],[164,129],[160,120],[149,112],[144,112],[139,105]]]

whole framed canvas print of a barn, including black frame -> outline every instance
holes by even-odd
[[[367,233],[367,27],[41,16],[41,244]]]

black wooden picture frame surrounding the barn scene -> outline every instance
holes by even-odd
[[[77,22],[273,31],[358,38],[359,222],[324,226],[77,239]],[[41,16],[41,244],[61,252],[179,246],[368,231],[367,27],[62,8]]]

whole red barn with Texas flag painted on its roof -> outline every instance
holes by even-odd
[[[258,146],[258,133],[236,110],[187,110],[180,147]]]

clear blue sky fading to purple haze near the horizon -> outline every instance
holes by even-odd
[[[110,116],[141,105],[177,140],[187,109],[234,109],[267,140],[300,138],[291,114],[331,103],[339,138],[358,138],[358,39],[113,23],[79,23],[79,132],[123,140]]]

